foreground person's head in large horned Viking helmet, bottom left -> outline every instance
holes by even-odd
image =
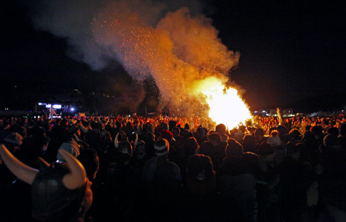
[[[91,183],[83,165],[66,150],[59,149],[59,153],[67,163],[49,164],[40,158],[41,168],[37,170],[0,146],[1,158],[8,169],[32,185],[32,214],[39,221],[73,220],[81,210],[85,213],[92,202]]]

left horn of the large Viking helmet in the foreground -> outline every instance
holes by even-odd
[[[16,157],[12,155],[8,149],[1,144],[0,145],[0,155],[3,162],[5,162],[8,169],[19,179],[24,181],[27,184],[32,184],[36,175],[39,173],[39,170],[31,168]]]

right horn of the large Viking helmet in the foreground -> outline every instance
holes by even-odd
[[[77,189],[84,185],[87,180],[87,173],[82,163],[64,149],[59,149],[59,153],[64,157],[71,171],[62,179],[65,187],[68,189]]]

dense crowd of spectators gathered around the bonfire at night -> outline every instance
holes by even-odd
[[[1,221],[346,221],[346,120],[0,118]]]

